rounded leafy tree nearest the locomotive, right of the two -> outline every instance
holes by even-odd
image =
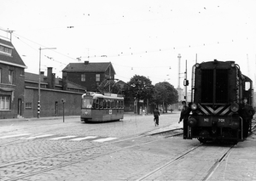
[[[156,105],[167,106],[177,103],[177,90],[169,82],[159,82],[154,86],[154,102]]]

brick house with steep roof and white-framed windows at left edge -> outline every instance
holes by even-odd
[[[25,69],[12,42],[0,38],[0,119],[23,115]]]

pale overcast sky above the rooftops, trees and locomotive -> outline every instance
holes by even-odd
[[[0,0],[0,29],[26,72],[111,62],[115,78],[146,76],[183,87],[196,62],[234,60],[256,82],[254,0]],[[5,31],[0,36],[8,36]],[[47,49],[49,48],[49,49]],[[55,48],[55,49],[51,49]],[[178,74],[178,54],[181,55]],[[187,62],[187,66],[186,66]]]

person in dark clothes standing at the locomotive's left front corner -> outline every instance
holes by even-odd
[[[187,105],[186,101],[182,101],[183,104],[183,110],[180,113],[179,121],[178,123],[183,121],[183,139],[187,138],[188,135],[188,119],[189,119],[189,113],[191,111],[191,103],[189,103],[189,106]]]

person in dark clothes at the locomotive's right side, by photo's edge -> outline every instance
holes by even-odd
[[[240,106],[239,114],[242,118],[243,123],[243,138],[247,138],[249,132],[250,122],[252,122],[255,110],[252,105],[247,104],[247,98],[242,99],[242,105]]]

